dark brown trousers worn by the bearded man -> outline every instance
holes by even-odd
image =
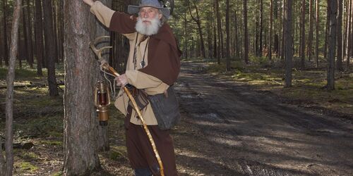
[[[129,110],[129,109],[128,109]],[[131,111],[128,111],[130,114]],[[128,159],[133,169],[150,168],[153,175],[160,175],[159,165],[155,153],[142,125],[130,122],[130,115],[126,115],[126,148]],[[148,125],[148,130],[155,141],[157,151],[163,163],[164,175],[177,175],[175,164],[173,139],[169,130],[160,130],[158,125]]]

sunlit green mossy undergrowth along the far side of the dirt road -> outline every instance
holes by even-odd
[[[275,62],[275,61],[273,61]],[[292,70],[292,87],[284,88],[285,70],[268,61],[252,61],[249,65],[232,61],[231,70],[226,70],[225,61],[205,63],[206,72],[226,77],[234,82],[252,85],[254,89],[270,91],[287,99],[304,103],[307,106],[328,108],[329,110],[353,115],[353,73],[336,73],[335,90],[325,89],[327,73],[325,69]],[[274,65],[269,67],[269,65]]]

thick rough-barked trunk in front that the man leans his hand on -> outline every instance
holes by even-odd
[[[92,94],[98,65],[89,48],[95,18],[82,1],[66,0],[64,11],[64,175],[89,175],[100,168]]]

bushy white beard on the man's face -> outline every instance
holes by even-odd
[[[144,34],[144,35],[152,35],[152,34],[157,34],[158,30],[160,30],[160,18],[158,18],[158,15],[156,15],[155,18],[153,18],[150,22],[150,25],[146,25],[143,23],[143,20],[146,20],[145,18],[138,18],[137,23],[135,25],[135,29],[138,33]]]

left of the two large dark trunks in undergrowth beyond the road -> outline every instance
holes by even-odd
[[[285,87],[292,87],[292,6],[293,1],[287,0],[285,4]]]

